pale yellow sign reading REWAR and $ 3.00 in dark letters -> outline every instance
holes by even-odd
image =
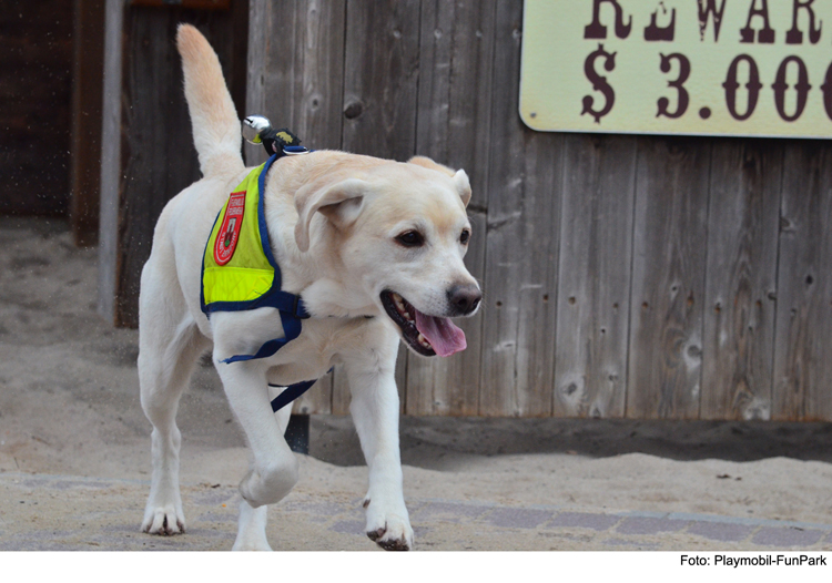
[[[532,130],[832,137],[832,0],[526,0]]]

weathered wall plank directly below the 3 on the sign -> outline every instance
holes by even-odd
[[[699,417],[711,143],[639,139],[627,417]]]

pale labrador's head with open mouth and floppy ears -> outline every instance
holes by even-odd
[[[465,349],[449,318],[473,315],[483,297],[463,263],[471,236],[465,171],[416,157],[359,175],[298,191],[298,248],[310,248],[313,219],[323,215],[321,239],[337,255],[345,295],[365,296],[419,355]]]

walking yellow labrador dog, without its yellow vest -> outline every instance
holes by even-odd
[[[270,385],[318,378],[334,364],[348,378],[349,409],[369,467],[367,535],[384,549],[410,549],[396,352],[399,338],[422,356],[465,348],[465,335],[448,318],[474,314],[481,298],[463,264],[470,236],[468,177],[424,157],[399,163],[319,151],[274,162],[262,193],[268,246],[282,289],[300,295],[311,317],[300,336],[272,356],[225,362],[281,338],[284,327],[272,307],[214,311],[210,318],[202,310],[206,242],[252,168],[241,157],[241,123],[216,54],[190,25],[180,27],[177,45],[203,178],[165,206],[142,272],[139,376],[142,407],[153,423],[153,477],[142,529],[185,530],[176,409],[194,361],[213,347],[253,453],[240,483],[234,550],[270,550],[266,505],[297,481],[297,460],[283,438],[291,407],[272,411]]]

